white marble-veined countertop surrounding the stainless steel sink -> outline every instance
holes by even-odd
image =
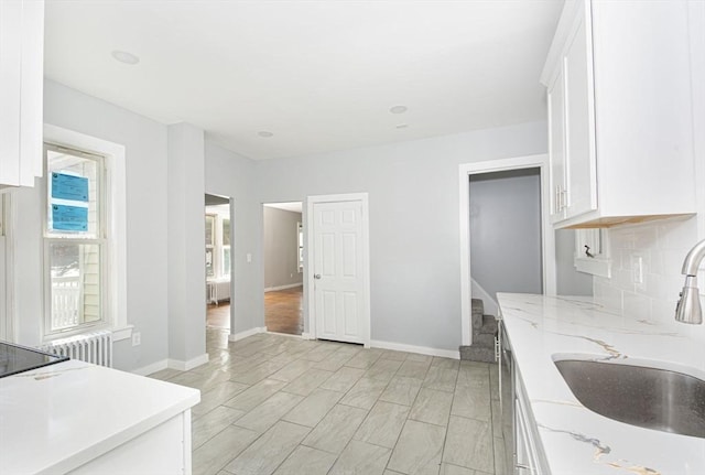
[[[705,345],[590,298],[499,293],[498,300],[552,475],[705,474],[705,439],[599,415],[577,401],[553,364],[556,354],[590,354],[686,367],[705,379]]]

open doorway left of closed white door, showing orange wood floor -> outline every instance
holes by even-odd
[[[267,203],[262,213],[264,325],[269,332],[301,335],[304,331],[302,203]]]

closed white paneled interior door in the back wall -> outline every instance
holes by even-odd
[[[310,202],[317,338],[369,345],[366,197]]]

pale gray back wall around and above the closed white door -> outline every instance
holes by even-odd
[[[372,339],[457,350],[458,164],[545,151],[545,122],[534,122],[267,160],[256,163],[257,201],[368,192]]]

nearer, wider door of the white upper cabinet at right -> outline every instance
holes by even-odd
[[[563,57],[565,76],[565,217],[597,209],[592,35],[583,9]]]

